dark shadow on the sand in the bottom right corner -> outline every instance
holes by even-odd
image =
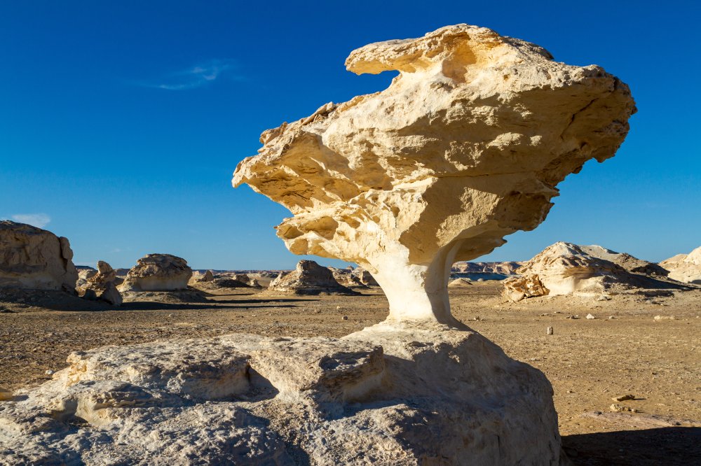
[[[567,435],[562,448],[573,465],[701,465],[701,428]]]

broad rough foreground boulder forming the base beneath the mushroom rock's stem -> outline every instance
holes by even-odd
[[[0,402],[25,464],[551,465],[552,388],[469,330],[227,335],[72,353]]]

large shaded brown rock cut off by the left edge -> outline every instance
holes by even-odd
[[[75,292],[78,271],[67,238],[0,220],[0,288]]]

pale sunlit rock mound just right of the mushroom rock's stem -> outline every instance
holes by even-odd
[[[505,294],[519,301],[524,297],[543,295],[600,296],[604,292],[616,294],[637,288],[683,288],[664,276],[632,272],[587,251],[618,260],[629,269],[657,272],[655,267],[640,265],[649,262],[631,255],[615,253],[601,246],[578,246],[561,241],[548,246],[516,269],[520,276],[507,278],[503,282]]]

